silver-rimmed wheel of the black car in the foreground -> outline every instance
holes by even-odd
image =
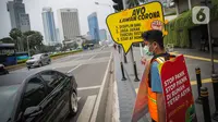
[[[78,102],[77,102],[77,95],[75,91],[70,91],[70,115],[75,115],[77,113],[78,110]]]

